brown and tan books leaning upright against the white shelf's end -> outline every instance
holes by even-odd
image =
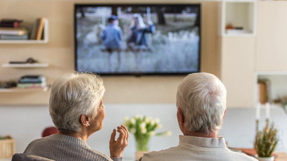
[[[35,22],[35,25],[31,31],[31,39],[33,40],[41,40],[43,31],[44,31],[44,24],[45,24],[46,18],[41,17],[38,18]]]

